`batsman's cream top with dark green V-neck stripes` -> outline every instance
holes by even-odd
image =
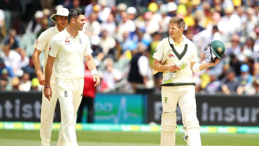
[[[169,44],[169,42],[171,45]],[[183,42],[181,44],[176,44],[172,38],[169,38],[169,42],[168,42],[168,38],[165,38],[161,42],[159,42],[155,50],[155,53],[153,55],[153,58],[157,59],[158,61],[161,61],[163,55],[166,53],[167,48],[171,48],[171,52],[168,55],[167,60],[165,61],[165,64],[174,64],[175,62],[180,62],[183,60],[188,62],[188,66],[178,71],[176,78],[173,79],[171,83],[194,83],[192,79],[193,72],[191,70],[190,64],[191,62],[197,61],[197,50],[195,45],[184,35],[183,35]],[[163,78],[165,78],[165,74],[167,74],[168,72],[169,71],[165,71],[163,73]],[[186,85],[186,87],[187,86],[188,85]],[[170,87],[170,88],[173,89],[173,91],[177,91],[177,92],[185,90],[181,86]]]

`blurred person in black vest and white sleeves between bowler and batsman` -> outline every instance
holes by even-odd
[[[147,47],[143,43],[138,43],[136,54],[130,61],[128,81],[135,92],[136,88],[144,88],[148,82],[149,61],[145,55]]]

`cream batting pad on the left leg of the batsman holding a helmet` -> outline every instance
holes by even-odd
[[[163,113],[161,117],[161,146],[175,146],[176,113]]]

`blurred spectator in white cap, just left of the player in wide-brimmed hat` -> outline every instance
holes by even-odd
[[[25,32],[34,33],[36,35],[41,30],[41,20],[43,19],[43,17],[44,14],[42,11],[36,11],[34,14],[34,19],[28,23]]]

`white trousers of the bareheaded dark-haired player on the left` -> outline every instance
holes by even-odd
[[[77,110],[82,100],[84,78],[56,78],[61,125],[58,146],[78,146],[75,131]]]

